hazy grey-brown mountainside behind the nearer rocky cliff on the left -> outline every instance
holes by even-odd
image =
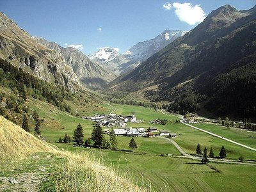
[[[39,44],[45,45],[48,49],[54,49],[61,53],[65,62],[73,68],[77,77],[88,88],[102,88],[110,81],[116,78],[116,75],[108,69],[100,67],[97,63],[91,61],[83,52],[72,47],[61,47],[54,42],[48,42],[38,36],[33,37]]]

